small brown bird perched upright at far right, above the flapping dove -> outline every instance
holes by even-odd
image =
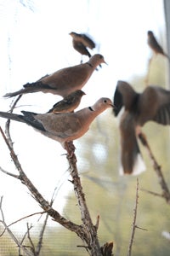
[[[148,45],[150,46],[150,49],[152,49],[155,54],[164,55],[169,59],[169,56],[167,54],[165,54],[161,45],[158,44],[158,42],[157,42],[157,40],[154,36],[154,33],[151,32],[151,31],[148,31],[148,40],[147,40],[147,42],[148,42]]]

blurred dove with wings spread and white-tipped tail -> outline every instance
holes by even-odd
[[[133,90],[125,81],[118,81],[114,95],[114,113],[122,107],[120,120],[122,173],[139,174],[145,169],[137,136],[148,121],[170,125],[170,91],[157,86],[147,86],[142,93]],[[139,165],[140,164],[140,165]]]

